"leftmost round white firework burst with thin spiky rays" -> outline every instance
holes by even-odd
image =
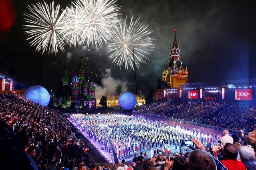
[[[60,5],[54,7],[54,2],[47,4],[45,1],[28,6],[28,10],[29,13],[24,13],[24,22],[27,23],[24,33],[28,34],[29,44],[36,46],[36,51],[42,50],[42,53],[56,54],[58,49],[64,51],[61,30],[65,10],[59,15]]]

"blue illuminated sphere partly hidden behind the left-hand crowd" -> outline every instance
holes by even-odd
[[[28,88],[24,93],[24,97],[43,106],[48,106],[50,102],[50,94],[42,86],[32,86]]]

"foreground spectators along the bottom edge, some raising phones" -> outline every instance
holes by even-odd
[[[231,138],[231,137],[230,137]],[[255,136],[254,136],[255,138]],[[199,140],[191,139],[196,150],[183,155],[158,154],[152,158],[134,154],[133,160],[122,160],[118,164],[95,166],[93,170],[254,170],[256,168],[255,146],[241,146],[240,143],[226,142],[219,148],[206,150]],[[246,143],[245,143],[246,144]],[[255,143],[254,143],[255,144]]]

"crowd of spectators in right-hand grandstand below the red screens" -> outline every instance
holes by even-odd
[[[174,118],[200,124],[208,124],[246,132],[256,129],[255,104],[220,103],[216,101],[158,100],[136,109],[160,118]]]

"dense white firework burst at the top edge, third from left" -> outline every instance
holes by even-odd
[[[107,43],[110,32],[118,23],[117,12],[120,7],[115,5],[117,0],[76,0],[73,2],[82,14],[86,15],[86,20],[81,25],[82,42],[86,46],[102,46]]]

